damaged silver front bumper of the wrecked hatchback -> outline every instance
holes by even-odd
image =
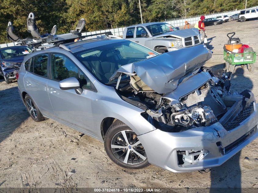
[[[239,126],[226,130],[220,122],[169,133],[159,129],[138,136],[151,164],[172,172],[220,166],[258,137],[257,104]]]

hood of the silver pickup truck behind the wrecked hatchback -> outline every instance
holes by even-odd
[[[190,28],[190,29],[185,29],[185,30],[176,30],[176,31],[170,31],[167,32],[165,34],[160,34],[157,36],[154,36],[153,38],[161,38],[164,36],[175,36],[177,38],[187,38],[187,37],[191,37],[194,35],[198,35],[199,34],[199,30],[197,28]]]

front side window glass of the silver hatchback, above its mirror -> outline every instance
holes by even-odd
[[[82,87],[91,88],[91,82],[88,77],[64,55],[51,54],[51,74],[52,79],[58,81],[75,77]]]

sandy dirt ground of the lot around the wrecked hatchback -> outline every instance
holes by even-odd
[[[206,66],[224,62],[223,44],[232,31],[258,52],[258,20],[209,26],[206,34],[214,53]],[[258,99],[257,75],[258,68],[252,74],[237,67],[231,91],[250,89]],[[209,173],[172,173],[153,165],[128,170],[108,158],[100,141],[53,120],[34,122],[16,82],[7,85],[0,80],[0,115],[0,188],[203,187],[206,192],[209,187],[258,188],[258,139]]]

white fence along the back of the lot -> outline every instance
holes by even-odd
[[[248,8],[248,9],[257,9],[257,8],[258,8],[258,6],[251,7],[251,8]],[[244,9],[242,9],[242,10],[244,10]],[[234,11],[228,11],[228,12],[213,13],[213,14],[207,14],[207,15],[204,15],[204,16],[205,16],[205,18],[212,18],[212,17],[224,16],[224,15],[231,16],[231,15],[234,15],[236,13],[240,13],[240,11],[242,11],[242,10],[234,10]],[[180,27],[180,26],[184,26],[185,21],[188,21],[191,24],[191,26],[194,26],[195,23],[200,19],[200,16],[192,16],[192,17],[188,17],[188,18],[169,19],[169,20],[165,20],[165,22],[173,25],[174,27]],[[82,33],[82,35],[93,35],[93,34],[98,34],[98,33],[102,33],[102,32],[111,31],[111,33],[115,36],[122,36],[124,30],[125,30],[125,27],[119,27],[119,28],[114,28],[114,29],[84,32],[84,33]],[[0,48],[5,48],[5,47],[9,47],[9,46],[14,46],[14,43],[0,44]]]

